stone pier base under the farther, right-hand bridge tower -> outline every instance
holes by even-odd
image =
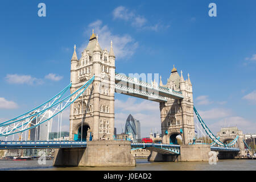
[[[180,155],[159,154],[151,151],[148,161],[151,162],[208,162],[210,146],[206,144],[186,144],[180,146]]]

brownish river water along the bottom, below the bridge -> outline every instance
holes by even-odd
[[[0,171],[9,170],[49,170],[49,171],[256,171],[256,160],[226,159],[218,160],[216,164],[208,162],[148,162],[147,159],[137,159],[136,167],[53,167],[53,160],[39,164],[38,160],[0,160]]]

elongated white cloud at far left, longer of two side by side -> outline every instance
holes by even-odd
[[[17,75],[17,74],[7,74],[5,77],[6,81],[10,84],[42,84],[42,79],[31,77],[30,75]]]

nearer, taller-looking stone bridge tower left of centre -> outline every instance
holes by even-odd
[[[88,46],[77,59],[76,46],[71,59],[71,93],[94,75],[94,81],[71,105],[69,139],[112,140],[114,135],[115,55],[102,50],[98,36],[92,33]]]

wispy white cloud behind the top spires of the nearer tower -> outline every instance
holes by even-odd
[[[113,40],[113,49],[115,53],[115,57],[122,58],[126,56],[131,56],[135,52],[138,47],[138,42],[135,42],[130,35],[114,35],[107,25],[102,25],[101,20],[96,20],[92,22],[88,26],[88,30],[86,31],[86,35],[90,35],[94,29],[94,32],[98,34],[98,42],[102,49],[110,49],[110,41]],[[88,45],[88,41],[86,41],[79,48],[79,52],[84,51],[86,46]]]

